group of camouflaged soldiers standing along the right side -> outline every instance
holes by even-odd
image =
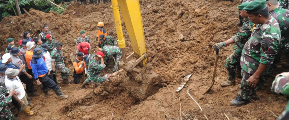
[[[248,104],[256,96],[257,87],[273,75],[281,56],[289,53],[288,0],[244,0],[238,9],[244,18],[240,30],[212,47],[218,51],[234,43],[234,51],[225,60],[228,80],[221,84],[222,87],[236,85],[235,77],[242,78],[240,92],[230,102],[232,106]],[[289,72],[278,74],[271,90],[289,99]],[[289,102],[278,119],[289,119]]]

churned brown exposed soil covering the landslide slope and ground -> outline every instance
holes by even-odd
[[[45,96],[41,87],[36,85],[38,92],[42,93],[31,100],[34,106],[32,111],[37,111],[37,115],[27,117],[20,113],[18,118],[108,120],[113,113],[114,120],[180,120],[180,98],[183,120],[205,119],[187,95],[186,91],[190,89],[190,94],[209,119],[225,119],[224,113],[232,120],[276,119],[284,110],[287,100],[270,91],[273,78],[268,78],[265,85],[258,89],[259,98],[250,104],[242,107],[229,105],[239,91],[241,80],[237,78],[236,86],[220,87],[227,79],[223,64],[232,51],[232,45],[221,49],[216,83],[209,94],[203,95],[211,84],[215,57],[212,45],[227,40],[239,29],[236,25],[237,5],[237,0],[234,3],[226,0],[140,0],[149,61],[147,66],[137,66],[134,71],[143,76],[132,79],[124,71],[119,77],[110,78],[110,83],[103,83],[97,88],[92,83],[86,89],[79,89],[80,84],[60,84],[63,93],[69,95],[68,99],[58,98],[51,90]],[[76,14],[72,15],[73,12]],[[21,39],[19,34],[24,31],[38,36],[44,24],[49,26],[56,40],[64,44],[64,56],[67,58],[74,51],[75,40],[81,30],[86,30],[93,46],[97,45],[95,37],[98,21],[105,23],[108,35],[116,37],[109,4],[71,4],[62,15],[33,9],[29,13],[32,17],[23,14],[6,17],[0,22],[2,55],[7,38],[14,37],[17,43]],[[127,46],[125,51],[129,55],[132,47],[124,22],[122,25]],[[65,63],[72,70],[71,62]],[[288,69],[279,65],[275,74],[284,71]],[[107,72],[111,73],[112,70],[106,69]],[[175,90],[188,74],[192,74],[190,80],[176,93]],[[70,79],[73,79],[72,76]]]

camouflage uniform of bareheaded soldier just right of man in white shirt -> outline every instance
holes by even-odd
[[[60,70],[62,79],[66,80],[70,74],[70,70],[64,65],[64,59],[61,50],[57,50],[56,48],[52,50],[51,61],[55,61],[55,68]]]

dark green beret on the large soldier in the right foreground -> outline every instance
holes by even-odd
[[[253,14],[264,10],[266,7],[266,0],[255,0],[246,7],[244,7],[243,10],[246,11],[248,14]]]

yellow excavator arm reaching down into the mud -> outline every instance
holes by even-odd
[[[140,12],[139,0],[111,0],[111,3],[116,34],[118,38],[117,42],[118,46],[122,49],[123,52],[123,62],[126,63],[130,56],[135,53],[140,56],[136,62],[142,61],[142,65],[144,66],[147,61],[147,48],[144,40],[144,30],[142,26],[142,16]],[[134,50],[134,52],[130,54],[129,57],[125,56],[125,50],[123,50],[125,48],[125,39],[123,37],[119,8],[127,28],[132,48]]]

